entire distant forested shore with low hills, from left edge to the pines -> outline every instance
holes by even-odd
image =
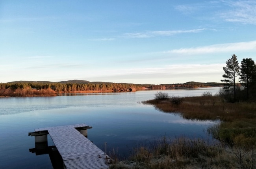
[[[0,96],[54,96],[61,93],[120,92],[141,89],[165,88],[197,88],[220,86],[221,83],[187,82],[185,84],[126,84],[109,82],[89,82],[86,80],[70,80],[62,82],[48,81],[16,81],[0,83]]]

